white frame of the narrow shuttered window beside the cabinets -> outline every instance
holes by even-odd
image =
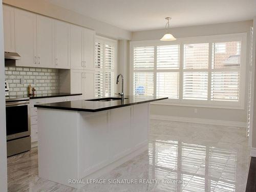
[[[94,40],[94,46],[96,44],[96,42],[99,42],[103,45],[102,47],[102,51],[103,51],[103,61],[102,61],[102,68],[96,68],[95,67],[95,56],[96,54],[94,54],[94,73],[97,73],[97,72],[102,72],[102,75],[103,75],[103,80],[102,80],[102,83],[103,83],[103,92],[102,92],[102,96],[105,97],[105,72],[111,72],[112,75],[113,75],[113,79],[111,79],[111,95],[114,95],[114,93],[116,92],[116,86],[115,86],[115,76],[117,74],[117,49],[118,49],[118,45],[117,45],[117,40],[114,40],[114,39],[110,39],[110,38],[106,38],[106,37],[102,37],[102,36],[98,36],[96,35],[95,36],[95,40]],[[113,69],[106,69],[105,68],[105,45],[110,45],[110,46],[113,46],[114,47],[114,63],[113,63]],[[94,47],[94,51],[95,51],[95,47]],[[94,77],[95,78],[95,77]],[[94,82],[95,83],[95,82]],[[95,89],[96,89],[96,86],[94,84],[94,97],[95,97]]]

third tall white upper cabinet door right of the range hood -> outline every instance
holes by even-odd
[[[55,68],[70,69],[70,24],[55,20]]]

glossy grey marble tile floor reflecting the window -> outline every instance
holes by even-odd
[[[148,151],[99,179],[153,183],[87,184],[74,189],[38,178],[37,160],[37,148],[8,158],[8,191],[243,192],[250,157],[244,128],[151,120]]]

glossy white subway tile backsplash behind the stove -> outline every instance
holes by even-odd
[[[5,79],[9,82],[10,95],[28,94],[29,84],[36,94],[59,91],[57,69],[5,67]]]

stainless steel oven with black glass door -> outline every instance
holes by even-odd
[[[31,149],[29,98],[6,99],[7,156]]]

